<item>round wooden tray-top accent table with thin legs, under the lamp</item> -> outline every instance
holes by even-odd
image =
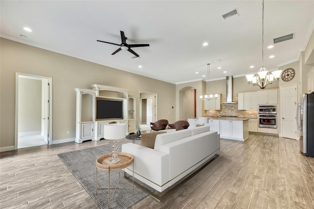
[[[131,164],[133,164],[133,156],[128,153],[117,153],[118,157],[121,159],[119,162],[112,163],[109,160],[112,157],[112,153],[105,154],[101,157],[98,157],[96,159],[96,194],[98,189],[108,189],[108,208],[110,204],[110,199],[112,195],[114,194],[114,191],[116,189],[126,189],[126,190],[132,190],[132,193],[134,194],[134,166],[133,166],[133,180],[132,180],[132,188],[118,188],[118,184],[120,183],[120,170],[126,167],[129,167]],[[97,173],[98,169],[108,171],[108,188],[97,188]],[[119,170],[119,180],[114,188],[110,188],[110,171],[116,171]],[[113,189],[113,193],[110,197],[110,189]]]

